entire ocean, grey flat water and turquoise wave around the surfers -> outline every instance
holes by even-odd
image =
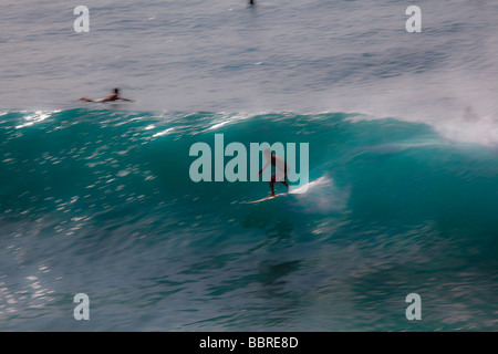
[[[421,33],[394,0],[84,4],[0,9],[1,331],[498,330],[496,1],[411,3]],[[215,134],[308,143],[315,184],[194,183]]]

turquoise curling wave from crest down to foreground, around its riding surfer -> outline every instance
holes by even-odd
[[[1,115],[3,295],[29,294],[33,277],[44,288],[9,303],[0,326],[35,329],[45,316],[25,309],[43,303],[64,329],[61,303],[87,292],[106,315],[97,330],[406,330],[404,298],[419,292],[419,330],[497,330],[496,152],[364,118]],[[189,149],[215,149],[215,134],[307,143],[314,184],[245,205],[268,183],[194,183]]]

